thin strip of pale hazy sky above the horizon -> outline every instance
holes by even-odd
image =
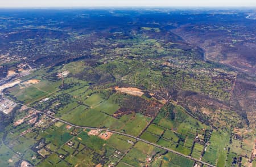
[[[255,7],[256,0],[0,0],[0,7]]]

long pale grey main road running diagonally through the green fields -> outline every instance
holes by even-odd
[[[27,108],[30,108],[29,106],[24,105],[24,104],[20,104],[20,105],[23,105],[23,106],[26,106]],[[193,161],[200,162],[201,164],[204,164],[204,165],[207,165],[207,166],[211,166],[211,167],[215,167],[214,165],[210,165],[210,164],[208,164],[207,162],[204,162],[204,161],[201,161],[201,160],[197,160],[197,159],[195,159],[195,158],[193,158],[193,157],[191,157],[191,156],[184,155],[183,153],[174,151],[174,150],[172,150],[172,149],[170,149],[170,148],[166,148],[166,147],[163,147],[163,146],[161,146],[161,145],[148,142],[147,140],[144,140],[144,139],[141,139],[141,138],[137,138],[137,137],[135,137],[135,136],[132,136],[132,135],[129,135],[129,134],[125,134],[125,133],[123,133],[123,132],[117,132],[117,131],[113,131],[113,130],[109,130],[109,129],[101,129],[101,128],[97,128],[97,127],[88,127],[88,126],[74,125],[73,123],[64,121],[63,119],[60,119],[60,118],[55,118],[55,117],[53,117],[52,115],[49,115],[49,114],[44,113],[44,112],[40,112],[39,110],[36,110],[36,109],[33,109],[33,108],[30,108],[30,109],[35,110],[35,112],[37,112],[37,113],[41,113],[41,114],[47,115],[48,117],[50,117],[50,118],[52,118],[52,119],[55,119],[56,121],[63,122],[63,123],[65,123],[65,124],[70,125],[70,126],[73,126],[73,127],[78,127],[78,128],[81,128],[81,129],[93,129],[93,130],[103,130],[103,131],[113,132],[114,134],[127,136],[127,137],[133,138],[133,139],[135,139],[135,140],[138,140],[138,141],[141,141],[141,142],[150,144],[150,145],[154,145],[155,147],[162,148],[162,149],[164,149],[164,150],[167,150],[167,151],[170,151],[170,152],[172,152],[172,153],[175,153],[176,155],[180,155],[180,156],[186,157],[186,158],[188,158],[188,159],[191,159],[191,160],[193,160]]]

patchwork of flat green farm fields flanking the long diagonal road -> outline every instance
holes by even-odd
[[[76,66],[68,64],[67,67],[71,76],[64,79],[63,86],[54,77],[53,70],[37,76],[40,82],[20,83],[6,89],[5,93],[15,101],[74,125],[124,132],[212,165],[232,165],[236,155],[226,146],[230,144],[229,131],[212,131],[181,106],[163,104],[163,100],[154,95],[129,95],[116,91],[113,84],[92,87],[89,80],[75,77]],[[30,78],[26,76],[24,80],[27,79]],[[38,166],[195,164],[193,160],[127,136],[113,134],[104,140],[89,135],[90,130],[77,129],[29,110],[17,109],[14,122],[22,122],[7,127],[10,132],[5,136],[5,145],[1,146],[3,157],[6,157],[3,160],[10,159],[5,161],[6,165],[18,162],[16,153]],[[30,123],[32,118],[38,123]],[[222,142],[218,143],[220,137]]]

